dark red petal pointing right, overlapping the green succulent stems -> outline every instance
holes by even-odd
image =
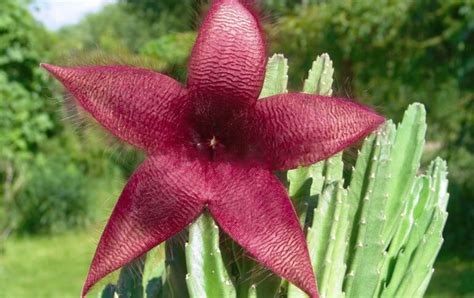
[[[360,104],[333,97],[289,93],[256,105],[251,130],[272,170],[326,159],[375,130],[384,118]]]

